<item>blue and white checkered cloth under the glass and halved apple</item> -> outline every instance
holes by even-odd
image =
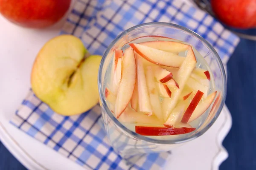
[[[157,21],[197,32],[212,44],[224,64],[239,42],[209,14],[181,0],[77,0],[61,34],[79,37],[91,54],[102,55],[122,31]],[[158,170],[170,154],[146,154],[136,158],[135,163],[124,160],[109,144],[99,105],[81,115],[61,116],[31,90],[11,123],[89,170]]]

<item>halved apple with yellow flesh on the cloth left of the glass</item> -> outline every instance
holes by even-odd
[[[31,73],[35,95],[56,113],[74,115],[99,102],[97,77],[101,56],[84,56],[79,38],[60,35],[39,51]]]

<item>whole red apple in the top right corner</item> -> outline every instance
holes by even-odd
[[[211,0],[216,17],[235,28],[256,28],[256,0]]]

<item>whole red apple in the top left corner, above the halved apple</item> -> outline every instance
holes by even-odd
[[[58,22],[71,0],[0,0],[0,13],[12,23],[44,28]]]

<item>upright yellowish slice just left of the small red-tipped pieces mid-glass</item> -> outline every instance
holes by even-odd
[[[146,68],[146,80],[147,80],[147,86],[148,86],[148,92],[149,92],[149,99],[150,99],[150,103],[151,103],[151,107],[154,115],[156,115],[159,120],[163,120],[161,102],[159,99],[158,91],[156,89],[156,85],[154,83],[153,72],[154,71],[151,66],[148,66]]]

